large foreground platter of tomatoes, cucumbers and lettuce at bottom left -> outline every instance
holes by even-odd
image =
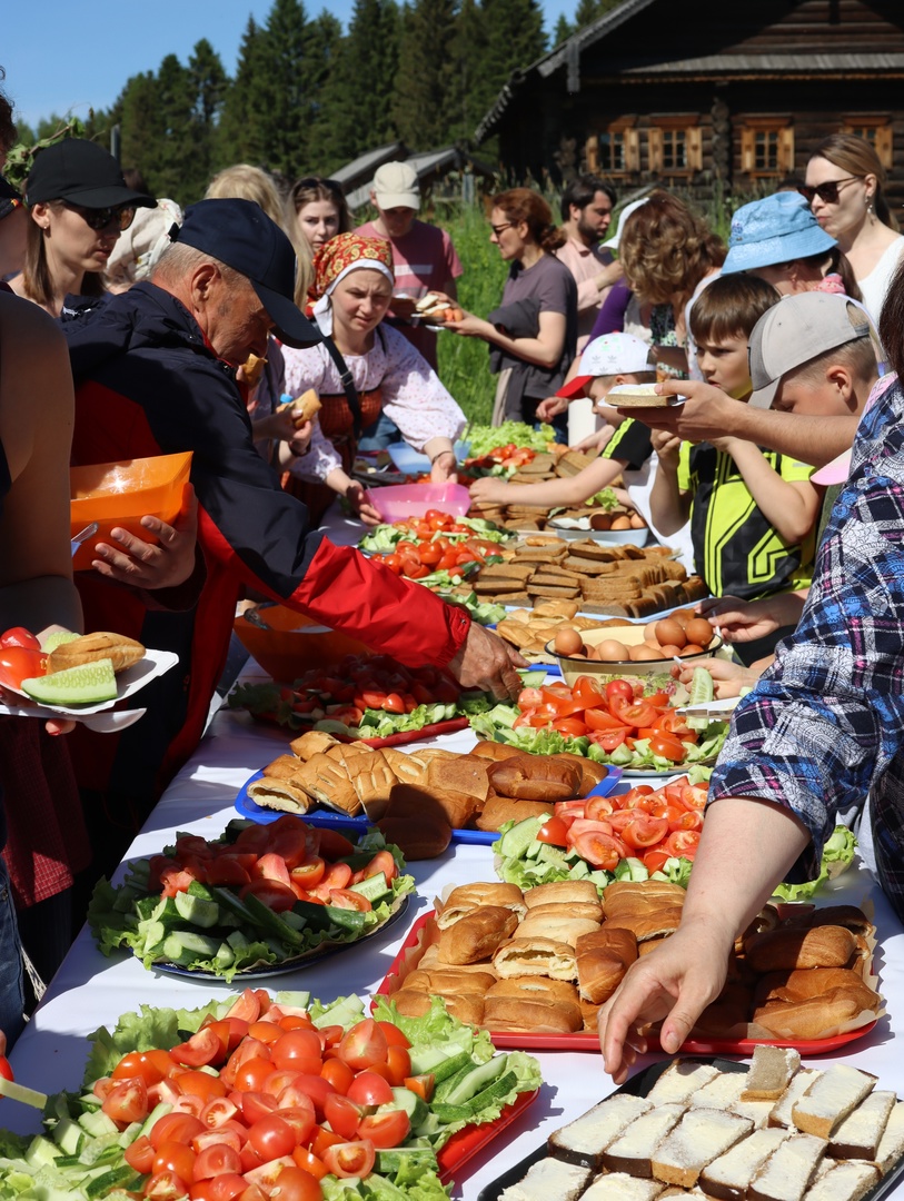
[[[246,988],[143,1005],[91,1040],[82,1092],[44,1099],[44,1133],[2,1133],[4,1196],[447,1201],[540,1085],[532,1056],[495,1053],[439,1000],[365,1017],[359,997]]]

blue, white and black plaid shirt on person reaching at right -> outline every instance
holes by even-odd
[[[818,873],[836,814],[870,796],[882,888],[904,920],[904,388],[881,380],[819,549],[807,607],[737,707],[710,797],[790,808]]]

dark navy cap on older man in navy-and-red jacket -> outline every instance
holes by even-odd
[[[295,304],[295,251],[275,221],[253,201],[198,201],[169,237],[244,275],[288,346],[322,342],[317,327]]]

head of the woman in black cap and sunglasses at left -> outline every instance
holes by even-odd
[[[151,196],[127,187],[113,155],[66,138],[35,159],[25,183],[31,222],[25,267],[13,291],[59,317],[67,295],[98,297],[116,239]]]

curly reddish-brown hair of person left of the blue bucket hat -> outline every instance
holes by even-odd
[[[631,291],[652,304],[684,304],[728,250],[671,192],[655,191],[624,222],[618,257]]]

